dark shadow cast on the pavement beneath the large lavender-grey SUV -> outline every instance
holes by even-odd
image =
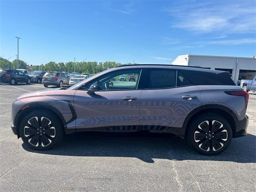
[[[172,138],[170,134],[87,132],[86,136],[66,137],[51,150],[32,150],[24,143],[22,147],[29,152],[40,154],[134,157],[148,163],[154,163],[155,158],[255,163],[255,142],[256,136],[248,134],[245,137],[233,139],[229,148],[223,153],[204,156],[195,152],[181,138]]]

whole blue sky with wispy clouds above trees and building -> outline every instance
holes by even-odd
[[[252,57],[255,1],[1,1],[0,56],[28,64]]]

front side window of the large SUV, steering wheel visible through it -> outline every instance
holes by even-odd
[[[110,72],[80,87],[88,90],[92,84],[98,84],[100,90],[134,90],[137,89],[141,69],[126,69]],[[135,78],[129,80],[130,76]]]

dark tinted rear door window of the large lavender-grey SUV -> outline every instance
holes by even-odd
[[[176,86],[176,70],[148,69],[147,89],[171,88]]]

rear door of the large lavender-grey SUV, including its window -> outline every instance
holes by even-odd
[[[146,89],[142,90],[140,102],[140,125],[182,127],[188,113],[200,106],[200,89],[190,86],[190,82],[178,74],[177,82],[182,80],[188,85],[179,86],[176,74],[176,70],[147,70]]]

